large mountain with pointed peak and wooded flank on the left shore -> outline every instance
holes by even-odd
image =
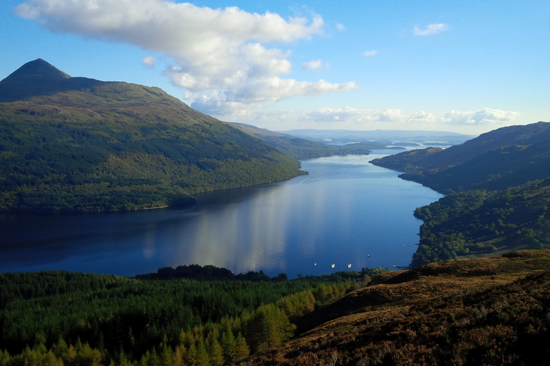
[[[300,173],[262,139],[160,88],[70,77],[42,59],[0,81],[0,211],[102,211]]]

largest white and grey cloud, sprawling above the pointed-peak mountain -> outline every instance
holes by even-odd
[[[15,12],[54,32],[167,54],[176,65],[167,67],[164,75],[193,96],[218,91],[226,95],[227,102],[243,102],[355,87],[353,83],[281,78],[292,72],[287,59],[290,52],[266,48],[265,44],[309,40],[323,30],[319,15],[310,20],[283,19],[270,12],[211,9],[171,0],[27,0]],[[149,65],[145,60],[144,64]]]

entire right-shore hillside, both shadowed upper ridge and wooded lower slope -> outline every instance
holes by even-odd
[[[371,162],[449,194],[416,209],[424,224],[412,267],[550,247],[548,122],[503,127],[445,150],[418,149]]]

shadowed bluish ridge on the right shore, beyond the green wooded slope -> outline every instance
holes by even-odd
[[[418,156],[418,159],[412,156]],[[419,149],[372,164],[443,193],[507,189],[550,176],[550,123],[502,127],[442,151]]]

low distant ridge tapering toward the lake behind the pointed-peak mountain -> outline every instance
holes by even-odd
[[[362,142],[359,144],[346,145],[331,145],[324,140],[304,139],[289,135],[287,133],[279,133],[270,131],[266,128],[258,128],[245,123],[234,123],[243,131],[254,134],[254,136],[263,139],[271,147],[277,149],[281,153],[293,157],[294,159],[304,160],[312,159],[313,157],[330,156],[330,155],[347,155],[347,154],[369,154],[370,149],[386,149],[387,144],[376,142]],[[394,147],[399,148],[399,147]]]

